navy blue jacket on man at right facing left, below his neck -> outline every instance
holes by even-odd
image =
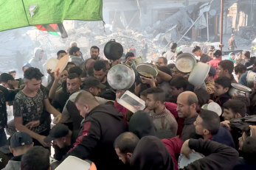
[[[232,135],[229,132],[229,130],[225,127],[220,126],[218,132],[215,135],[212,135],[211,141],[215,141],[220,144],[225,144],[226,146],[235,148],[235,143],[233,141]]]

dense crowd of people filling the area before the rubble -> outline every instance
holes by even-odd
[[[142,46],[145,57],[145,40]],[[188,82],[190,74],[176,68],[182,53],[176,48],[171,43],[170,52],[151,63],[156,77],[136,77],[125,89],[145,102],[136,113],[117,102],[125,90],[114,93],[108,84],[108,71],[121,59],[103,60],[100,49],[91,46],[89,59],[95,63],[87,69],[89,59],[72,42],[56,55],[60,60],[69,54],[66,68],[44,71],[44,51],[36,48],[22,67],[24,77],[15,79],[13,70],[0,76],[0,169],[55,169],[69,156],[91,161],[99,170],[256,169],[256,81],[251,93],[229,94],[232,83],[248,86],[255,57],[246,51],[223,60],[220,50],[212,47],[204,54],[195,46],[191,53],[197,62],[210,64],[206,88],[195,88]],[[125,61],[138,56],[131,46]],[[205,107],[211,103],[221,113]],[[7,105],[13,105],[13,120],[7,121]],[[189,158],[192,152],[204,157],[179,167],[179,155]]]

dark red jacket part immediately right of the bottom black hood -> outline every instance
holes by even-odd
[[[175,155],[179,154],[181,152],[181,147],[183,145],[183,141],[179,137],[174,138],[164,138],[161,139],[162,143],[165,144],[166,149],[170,153],[170,155],[173,157],[173,163],[175,170],[178,169],[178,162],[176,160]]]

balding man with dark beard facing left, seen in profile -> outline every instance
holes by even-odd
[[[198,138],[198,135],[196,135],[196,128],[193,124],[198,116],[198,113],[196,112],[197,105],[198,99],[195,93],[185,91],[179,94],[177,99],[177,111],[179,118],[185,119],[181,133],[182,141],[186,141],[189,138]]]

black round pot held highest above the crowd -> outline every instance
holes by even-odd
[[[122,45],[111,39],[104,46],[104,54],[108,60],[118,60],[123,54]]]

